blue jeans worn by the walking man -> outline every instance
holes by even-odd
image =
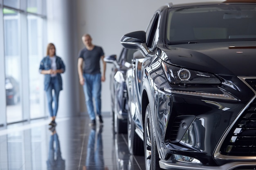
[[[101,73],[83,74],[85,84],[83,91],[85,93],[85,102],[90,119],[95,119],[94,106],[92,98],[96,105],[97,115],[101,115]]]

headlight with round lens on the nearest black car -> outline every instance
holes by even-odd
[[[164,73],[171,84],[220,84],[220,80],[211,73],[193,71],[162,62]]]

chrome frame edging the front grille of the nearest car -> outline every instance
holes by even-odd
[[[256,157],[254,156],[227,156],[227,155],[221,155],[220,154],[220,147],[222,146],[224,140],[226,139],[227,135],[229,134],[231,128],[236,124],[238,119],[241,117],[241,115],[244,113],[244,111],[248,108],[248,106],[254,101],[256,98],[256,91],[245,81],[245,79],[256,79],[256,77],[238,77],[240,80],[242,80],[251,90],[254,92],[254,97],[247,103],[247,105],[241,110],[241,112],[238,114],[238,117],[234,120],[234,122],[231,124],[231,126],[228,128],[227,132],[223,135],[222,139],[220,140],[215,152],[214,152],[214,158],[215,159],[232,159],[232,160],[255,160]]]

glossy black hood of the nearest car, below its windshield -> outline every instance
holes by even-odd
[[[256,42],[218,42],[162,46],[162,60],[214,74],[256,76]],[[165,55],[166,54],[166,55]]]

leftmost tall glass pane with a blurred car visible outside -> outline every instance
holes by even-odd
[[[20,13],[4,9],[4,59],[7,122],[21,121]]]

